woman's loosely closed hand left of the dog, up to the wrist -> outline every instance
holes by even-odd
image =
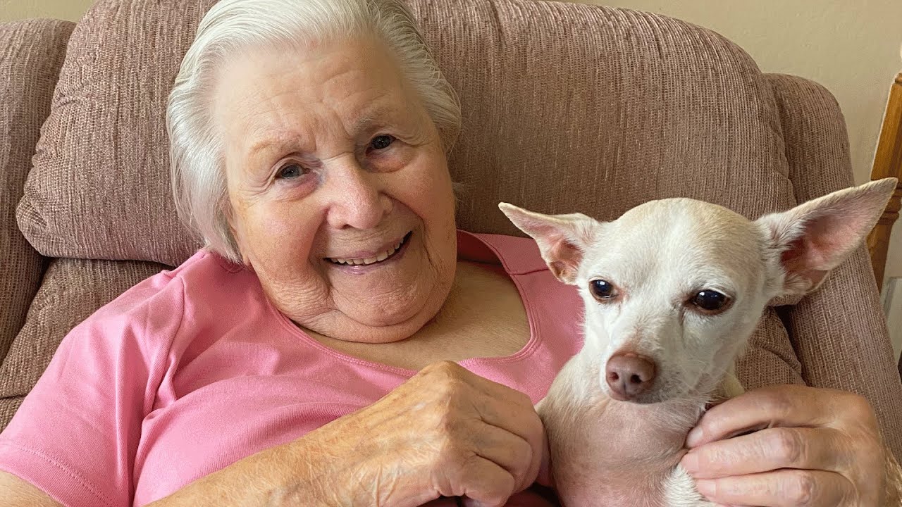
[[[301,440],[327,464],[328,504],[500,506],[535,481],[543,435],[525,394],[444,362]]]

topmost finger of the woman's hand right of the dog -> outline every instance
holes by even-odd
[[[754,429],[780,426],[828,426],[833,406],[846,398],[839,392],[801,385],[763,387],[724,401],[702,416],[689,432],[686,447],[700,445]]]

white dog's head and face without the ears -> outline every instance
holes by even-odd
[[[654,365],[654,382],[630,401],[713,391],[770,299],[763,243],[744,217],[688,199],[599,224],[575,283],[603,392],[621,399],[607,378],[615,355]]]

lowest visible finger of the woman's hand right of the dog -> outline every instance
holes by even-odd
[[[852,485],[842,475],[814,470],[776,470],[695,482],[708,500],[761,507],[840,507],[849,505]]]

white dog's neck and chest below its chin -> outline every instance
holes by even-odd
[[[569,392],[549,399],[542,410],[556,419],[547,428],[549,440],[556,442],[551,460],[557,486],[596,495],[606,500],[604,505],[661,505],[663,485],[686,454],[686,434],[718,393],[654,404],[612,400],[599,386],[599,365],[592,356],[575,356],[561,379],[561,388]],[[556,438],[551,429],[568,435]]]

